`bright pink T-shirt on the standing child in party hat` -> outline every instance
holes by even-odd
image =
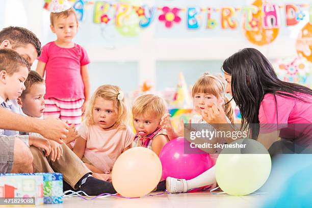
[[[44,98],[85,98],[81,67],[90,61],[82,46],[62,48],[49,42],[38,59],[46,64]]]

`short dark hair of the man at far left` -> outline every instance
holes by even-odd
[[[10,41],[12,49],[26,44],[32,44],[36,48],[38,56],[41,55],[41,42],[33,32],[25,28],[11,26],[2,29],[0,31],[0,43],[4,40]]]

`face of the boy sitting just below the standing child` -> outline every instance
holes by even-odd
[[[44,111],[45,101],[43,96],[45,95],[44,84],[33,84],[27,94],[21,98],[21,108],[24,114],[32,117],[40,118]]]

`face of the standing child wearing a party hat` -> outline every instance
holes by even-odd
[[[58,37],[58,40],[70,43],[78,30],[78,23],[74,14],[68,17],[62,17],[54,19],[54,25],[50,25],[51,30]]]

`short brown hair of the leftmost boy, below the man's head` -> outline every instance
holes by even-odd
[[[27,67],[30,70],[30,64],[23,57],[12,49],[0,49],[0,71],[5,70],[9,75],[19,71],[19,67]]]

